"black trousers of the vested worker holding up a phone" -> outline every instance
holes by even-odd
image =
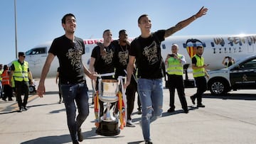
[[[178,98],[181,101],[182,109],[188,109],[188,105],[186,102],[186,97],[184,93],[184,84],[182,75],[176,74],[168,74],[168,82],[169,82],[169,92],[170,92],[170,103],[169,106],[171,109],[175,109],[174,106],[174,95],[175,89],[178,92]]]

